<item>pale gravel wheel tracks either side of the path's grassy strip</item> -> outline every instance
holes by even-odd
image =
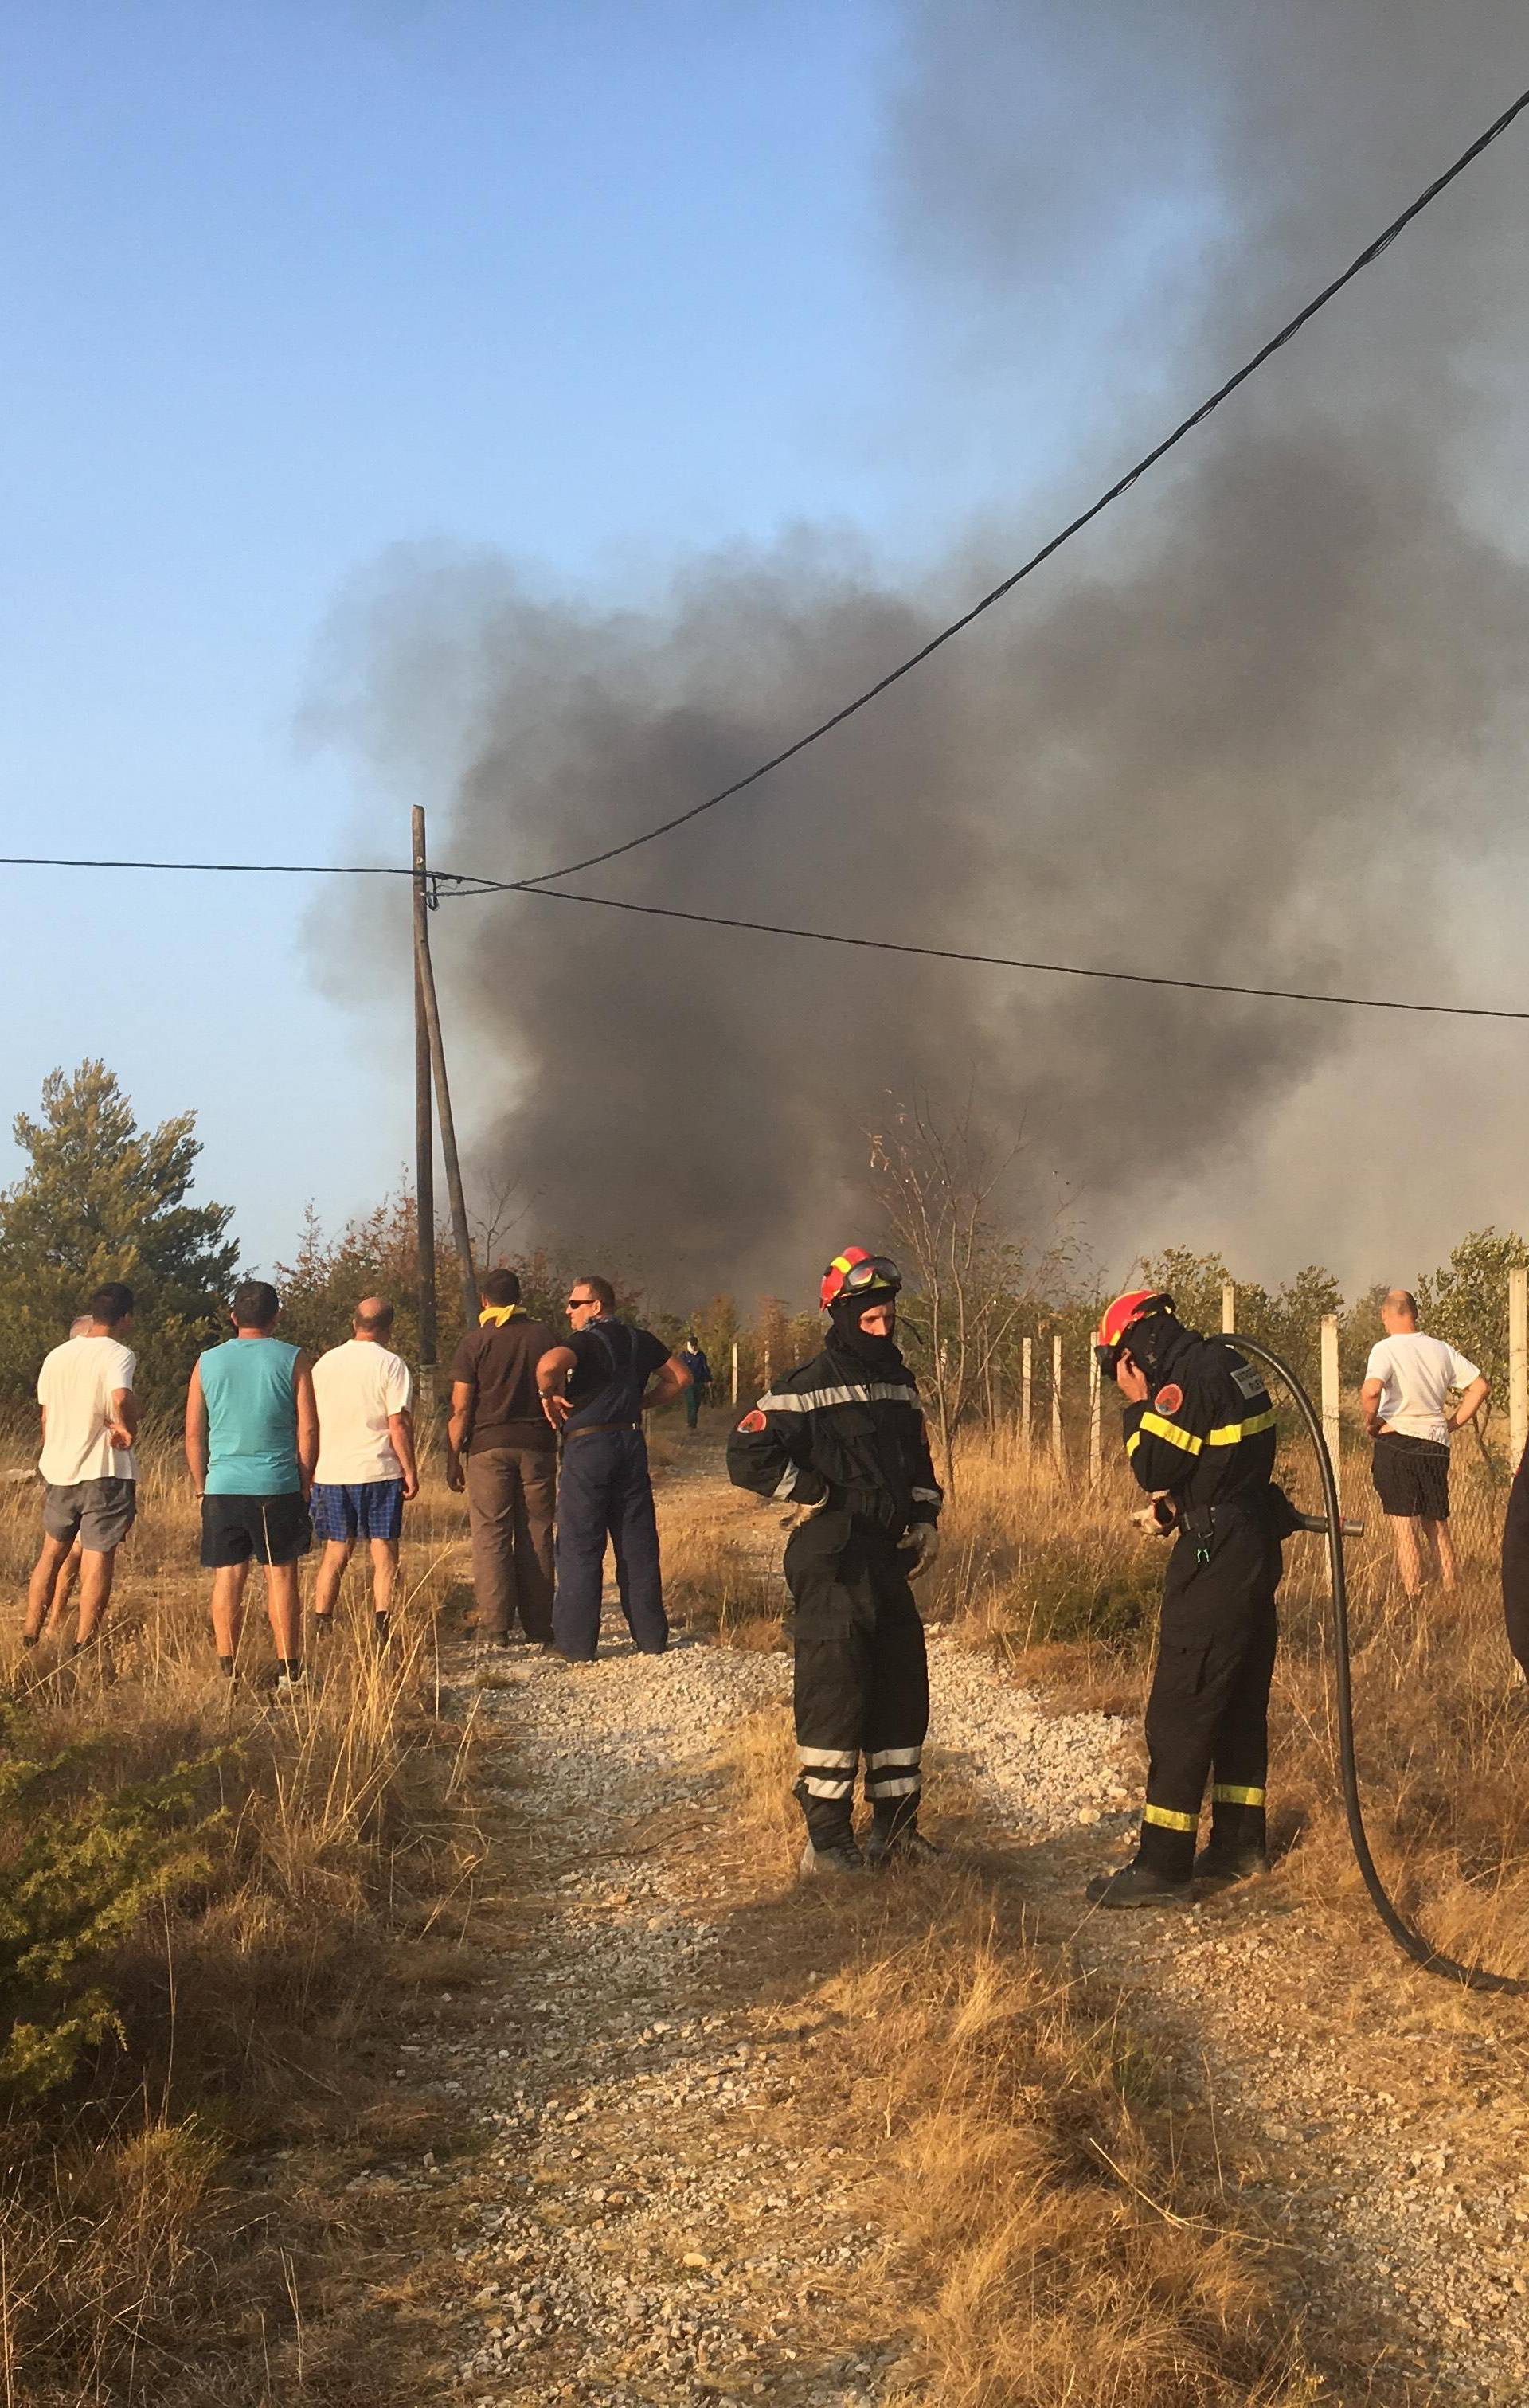
[[[501,1955],[392,2068],[467,2133],[414,2174],[455,2227],[457,2396],[881,2398],[903,2329],[862,2172],[795,2105],[821,2097],[831,2030],[718,1881],[718,1746],[785,1700],[787,1659],[636,1657],[616,1628],[588,1669],[462,1645],[443,1671],[445,1707],[477,1722],[510,1873]],[[1134,1734],[1047,1714],[949,1633],[932,1633],[932,1686],[946,1777],[978,1794],[1043,1934],[1127,1987],[1216,2112],[1230,2179],[1298,2254],[1353,2396],[1375,2365],[1382,2391],[1416,2377],[1413,2398],[1522,2401],[1522,2011],[1440,1991],[1380,1931],[1334,1963],[1279,1876],[1170,1919],[1086,1914],[1084,1876],[1134,1823]],[[761,1881],[778,1900],[790,1864]]]

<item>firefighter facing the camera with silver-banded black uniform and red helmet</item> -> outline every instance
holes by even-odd
[[[811,1507],[785,1544],[797,1606],[795,1796],[804,1873],[934,1854],[917,1830],[929,1666],[910,1575],[934,1563],[944,1503],[917,1387],[893,1332],[893,1262],[850,1245],[823,1271],[828,1344],[787,1373],[727,1440],[737,1488]],[[855,1770],[872,1808],[855,1840]]]

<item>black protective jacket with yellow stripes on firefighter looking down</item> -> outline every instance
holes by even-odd
[[[1124,1452],[1141,1486],[1168,1491],[1180,1510],[1262,1498],[1276,1447],[1262,1373],[1168,1312],[1127,1329],[1127,1346],[1153,1387],[1146,1404],[1124,1409]]]

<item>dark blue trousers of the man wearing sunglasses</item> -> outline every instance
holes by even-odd
[[[640,1430],[573,1430],[563,1440],[551,1640],[566,1657],[588,1659],[600,1642],[607,1536],[616,1548],[626,1628],[645,1654],[660,1654],[669,1642],[669,1623],[657,1568],[648,1442]]]

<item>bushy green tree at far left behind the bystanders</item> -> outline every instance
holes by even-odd
[[[188,1202],[195,1125],[195,1112],[176,1112],[140,1129],[104,1062],[82,1062],[72,1079],[51,1072],[41,1117],[17,1115],[29,1165],[0,1194],[0,1389],[12,1401],[31,1399],[36,1365],[91,1288],[123,1279],[137,1298],[140,1397],[178,1404],[238,1269],[231,1206]]]

